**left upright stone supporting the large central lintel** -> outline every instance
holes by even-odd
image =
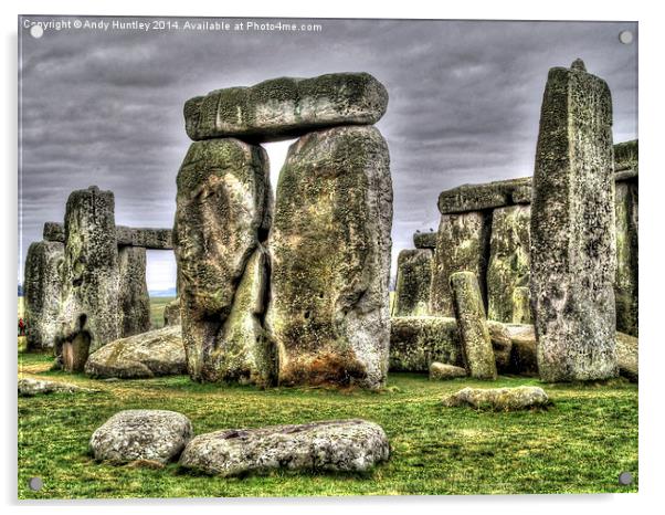
[[[249,263],[270,228],[267,155],[238,139],[198,141],[190,146],[177,182],[173,243],[189,375],[201,381],[265,377],[265,370],[224,368],[235,361],[232,356],[221,359],[221,349],[228,348],[225,324],[245,298],[239,284],[246,283],[246,274],[254,275]],[[250,355],[264,343],[244,338],[242,345],[233,351]]]

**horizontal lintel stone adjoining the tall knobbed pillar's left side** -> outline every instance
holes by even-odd
[[[441,214],[465,213],[530,202],[531,178],[462,185],[439,195]]]

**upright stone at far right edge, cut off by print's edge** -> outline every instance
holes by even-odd
[[[616,182],[616,330],[637,336],[637,182]]]

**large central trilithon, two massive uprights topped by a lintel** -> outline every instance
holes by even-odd
[[[194,143],[178,174],[173,245],[192,379],[384,383],[392,186],[371,124],[387,104],[367,73],[186,103]],[[296,136],[273,200],[258,144]]]

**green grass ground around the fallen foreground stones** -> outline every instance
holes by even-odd
[[[116,382],[49,371],[51,358],[19,355],[20,369],[102,390],[19,399],[19,497],[207,497],[407,494],[636,492],[618,476],[637,477],[637,387],[547,386],[547,411],[479,412],[441,406],[465,386],[538,385],[502,377],[430,382],[391,374],[380,393],[326,389],[258,390],[193,383],[187,377]],[[161,470],[96,463],[92,432],[123,409],[184,413],[197,434],[223,428],[363,418],[381,424],[391,459],[367,474],[276,472],[244,479],[208,477],[170,464]],[[40,476],[40,492],[28,480]]]

